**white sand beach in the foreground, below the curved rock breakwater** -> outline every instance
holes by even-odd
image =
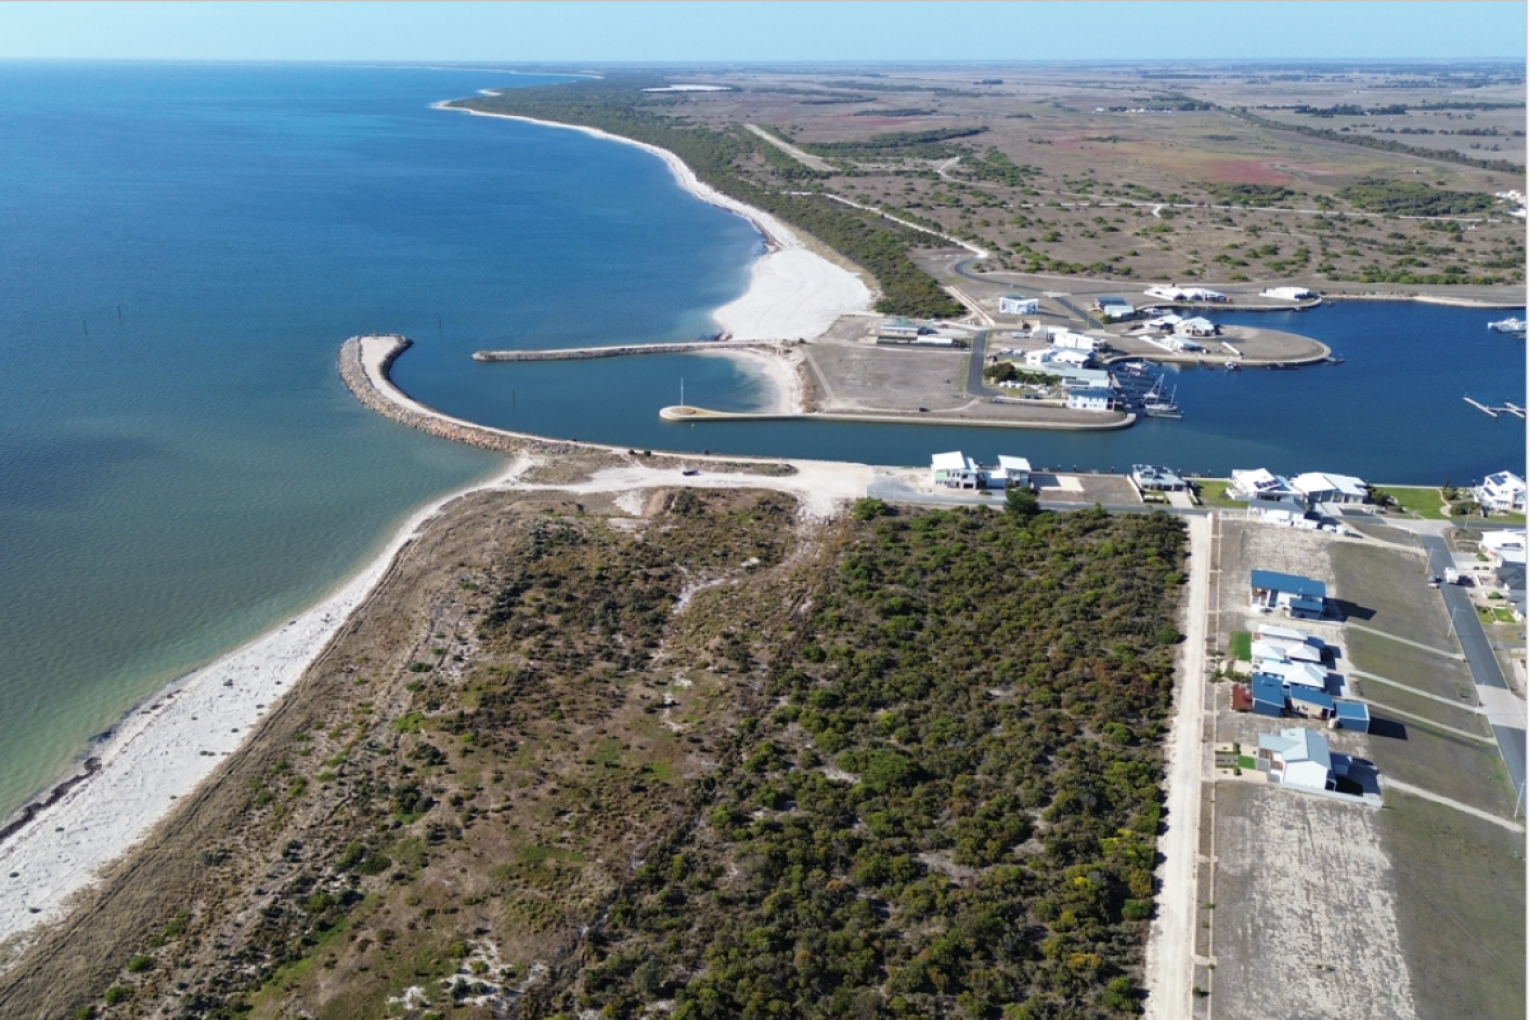
[[[57,921],[70,896],[213,775],[428,520],[461,495],[513,485],[526,466],[529,460],[517,459],[494,477],[415,511],[378,555],[318,603],[130,711],[92,748],[98,768],[0,843],[0,942]]]

